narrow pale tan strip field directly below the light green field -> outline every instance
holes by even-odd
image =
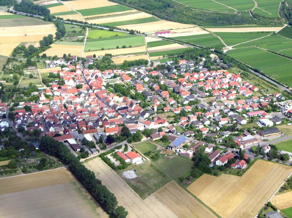
[[[145,46],[84,52],[83,57],[86,57],[86,55],[93,55],[93,54],[100,56],[100,55],[105,55],[105,54],[120,55],[120,54],[133,54],[133,53],[140,53],[140,52],[146,52]]]

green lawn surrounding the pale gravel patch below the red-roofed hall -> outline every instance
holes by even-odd
[[[157,189],[165,185],[171,179],[162,174],[161,172],[154,169],[154,167],[150,166],[150,161],[145,161],[139,166],[135,167],[134,164],[128,166],[128,168],[124,170],[119,170],[117,173],[119,176],[128,183],[128,185],[142,198],[147,198],[150,194],[155,192]],[[136,170],[135,174],[136,178],[127,179],[123,176],[123,172]]]

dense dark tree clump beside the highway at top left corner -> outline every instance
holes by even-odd
[[[22,0],[19,4],[14,5],[14,10],[28,13],[37,14],[41,16],[49,16],[50,10],[44,6],[34,4],[31,0]]]

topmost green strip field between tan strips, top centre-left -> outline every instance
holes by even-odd
[[[123,5],[113,5],[113,6],[105,6],[105,7],[100,7],[100,8],[88,8],[88,9],[82,9],[82,10],[77,10],[77,11],[81,13],[83,16],[91,16],[91,15],[107,14],[107,13],[121,12],[121,11],[127,11],[127,10],[132,10],[132,8],[128,8]]]

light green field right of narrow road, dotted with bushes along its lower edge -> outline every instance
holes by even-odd
[[[143,45],[144,38],[141,36],[114,36],[114,37],[108,37],[108,38],[98,38],[98,39],[89,39],[86,41],[85,45],[85,51],[88,51],[89,49],[91,51],[93,50],[100,50],[102,48],[104,49],[112,49],[119,46],[119,48],[122,48],[123,45],[126,47],[131,46],[138,46]]]

